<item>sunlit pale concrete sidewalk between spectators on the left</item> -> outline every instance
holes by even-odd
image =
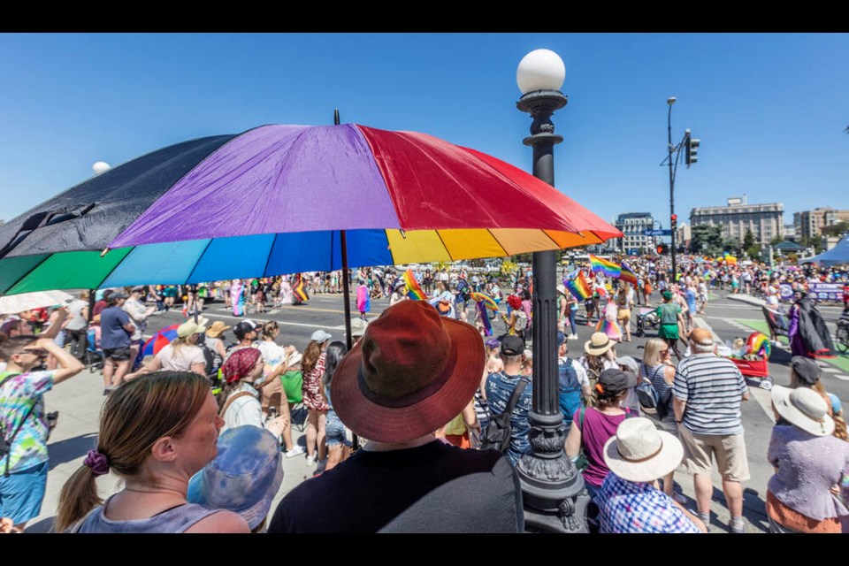
[[[82,371],[72,379],[60,383],[44,395],[46,410],[59,411],[56,429],[48,441],[50,471],[47,476],[47,492],[42,503],[42,512],[29,521],[26,532],[50,532],[56,516],[59,493],[65,481],[82,465],[88,450],[96,447],[100,409],[103,407],[103,377],[99,371]],[[127,416],[143,417],[143,416]],[[293,416],[292,440],[302,447],[306,441],[300,424],[306,410],[299,409]],[[272,502],[272,513],[294,486],[311,477],[316,466],[307,466],[305,455],[283,458],[283,483]],[[97,478],[98,492],[104,499],[122,487],[121,480],[113,473]]]

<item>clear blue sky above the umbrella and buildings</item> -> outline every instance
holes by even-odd
[[[555,185],[610,220],[694,206],[849,209],[849,34],[0,34],[0,218],[85,180],[91,165],[263,124],[413,130],[529,170],[516,65],[566,64]]]

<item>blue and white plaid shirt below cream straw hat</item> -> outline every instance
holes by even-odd
[[[598,496],[600,532],[701,532],[666,493],[608,473]]]

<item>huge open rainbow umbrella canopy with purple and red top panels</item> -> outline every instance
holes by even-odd
[[[0,294],[447,262],[621,233],[554,187],[427,134],[260,126],[113,167],[0,227]]]

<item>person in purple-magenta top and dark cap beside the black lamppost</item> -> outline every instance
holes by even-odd
[[[595,406],[578,409],[572,415],[564,449],[573,462],[583,451],[587,466],[581,473],[592,500],[596,499],[601,482],[609,471],[604,462],[604,445],[616,435],[616,427],[628,416],[627,410],[622,409],[620,403],[628,393],[628,388],[634,385],[633,376],[625,371],[602,371],[598,383],[593,387]]]

